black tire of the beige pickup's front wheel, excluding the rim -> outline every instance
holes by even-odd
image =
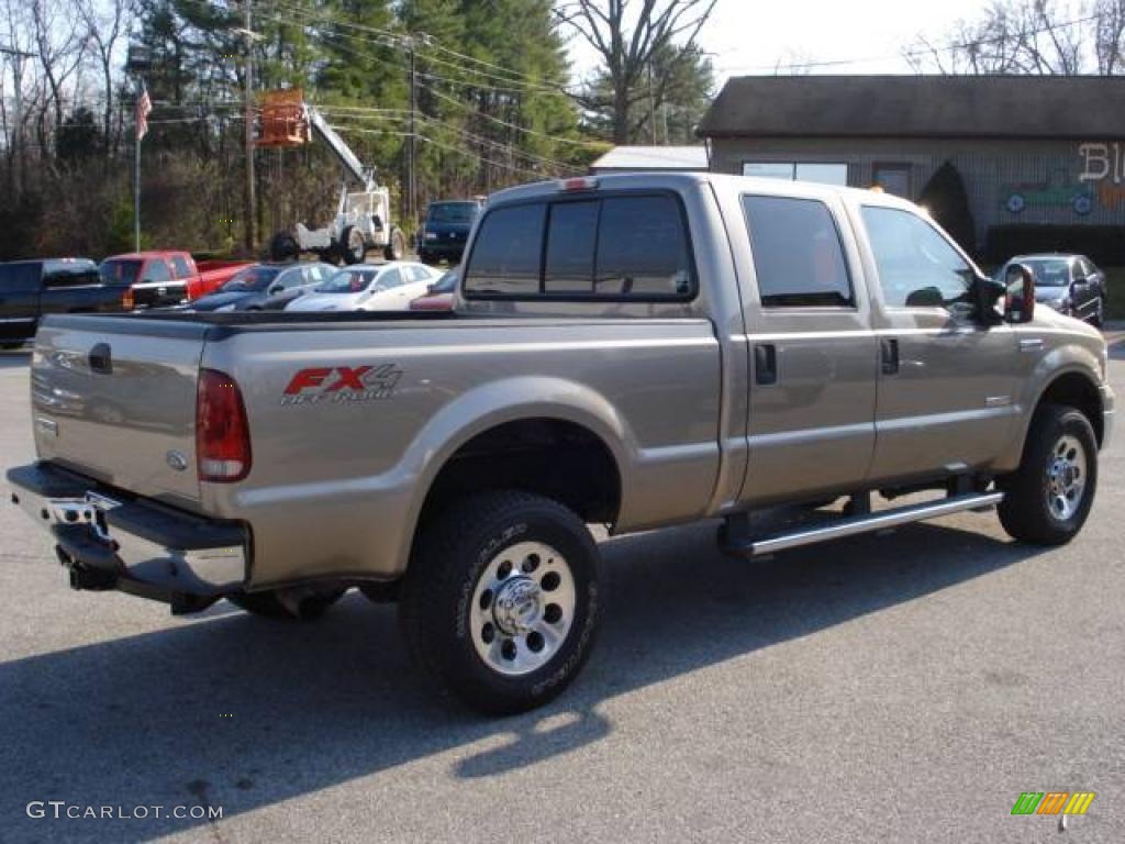
[[[1050,505],[1048,473],[1055,449],[1064,437],[1077,442],[1084,458],[1081,500],[1068,518],[1059,518]],[[997,508],[1000,523],[1014,539],[1034,545],[1064,545],[1078,536],[1094,504],[1098,483],[1098,443],[1086,415],[1073,407],[1044,404],[1032,419],[1019,468],[999,478],[1005,493]]]

